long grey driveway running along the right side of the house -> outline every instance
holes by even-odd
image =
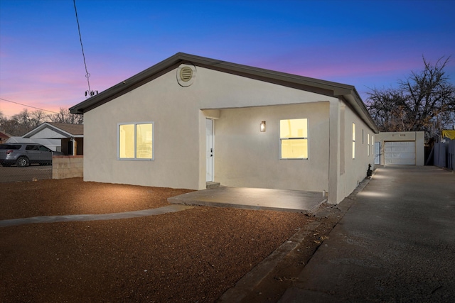
[[[279,302],[455,302],[455,174],[376,170]]]

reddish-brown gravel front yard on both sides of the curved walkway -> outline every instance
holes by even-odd
[[[0,220],[168,205],[188,189],[2,183]],[[0,302],[216,302],[299,228],[319,227],[244,302],[277,302],[343,211],[316,216],[196,206],[171,214],[0,228]]]

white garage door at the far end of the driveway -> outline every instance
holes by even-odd
[[[385,165],[415,165],[415,142],[385,142]]]

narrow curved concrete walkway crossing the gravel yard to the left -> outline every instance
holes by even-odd
[[[21,224],[33,223],[52,223],[52,222],[68,222],[68,221],[98,221],[98,220],[114,220],[137,218],[140,216],[154,216],[157,214],[166,214],[169,212],[183,211],[191,209],[192,206],[184,205],[169,205],[159,207],[157,209],[144,209],[141,211],[126,211],[114,214],[74,214],[68,216],[33,216],[24,219],[0,220],[0,227],[15,226]]]

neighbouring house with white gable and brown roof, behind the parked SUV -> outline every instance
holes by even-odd
[[[82,124],[45,122],[21,137],[40,143],[64,155],[82,155],[84,148],[84,126]]]

